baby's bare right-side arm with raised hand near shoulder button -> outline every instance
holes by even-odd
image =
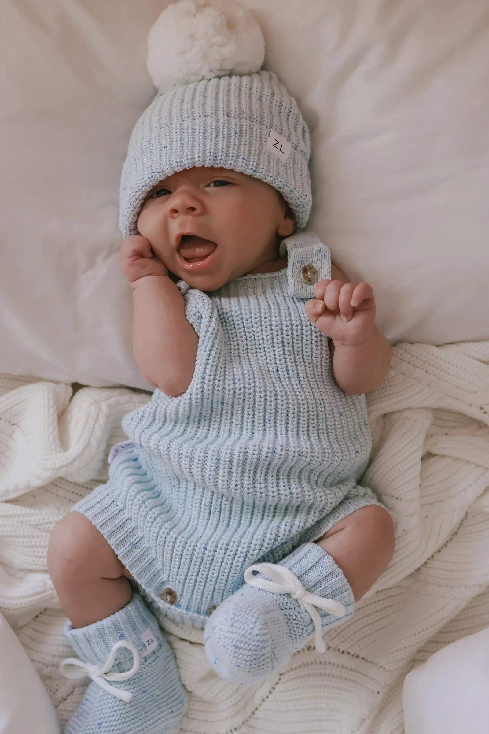
[[[334,280],[317,283],[306,313],[331,339],[333,374],[339,387],[350,395],[369,393],[391,366],[391,347],[375,326],[373,291],[368,283],[348,283],[333,264],[331,277]]]

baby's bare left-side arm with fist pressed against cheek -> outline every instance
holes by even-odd
[[[177,397],[194,376],[199,343],[182,294],[145,237],[125,239],[120,265],[133,288],[133,352],[141,377]]]

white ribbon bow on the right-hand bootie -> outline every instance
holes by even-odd
[[[260,573],[271,578],[272,581],[268,581],[266,578],[257,578],[252,572],[259,571]],[[324,644],[323,635],[321,634],[321,617],[315,609],[318,606],[320,609],[327,611],[334,617],[344,617],[346,614],[345,607],[335,601],[334,599],[325,599],[319,597],[311,592],[306,591],[302,586],[301,581],[298,580],[297,576],[292,571],[284,566],[279,566],[275,563],[256,563],[246,569],[244,573],[244,580],[246,584],[250,586],[256,586],[257,589],[263,589],[265,592],[273,592],[273,594],[290,594],[291,597],[298,600],[301,608],[304,611],[308,611],[311,615],[312,621],[315,626],[315,644],[318,653],[324,653],[326,651],[326,645]]]

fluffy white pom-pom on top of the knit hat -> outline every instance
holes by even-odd
[[[262,29],[235,0],[180,0],[163,10],[148,34],[147,68],[160,92],[250,74],[264,59]]]

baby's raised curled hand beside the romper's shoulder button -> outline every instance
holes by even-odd
[[[367,341],[375,326],[375,300],[368,283],[320,280],[306,314],[335,344],[355,346]]]

